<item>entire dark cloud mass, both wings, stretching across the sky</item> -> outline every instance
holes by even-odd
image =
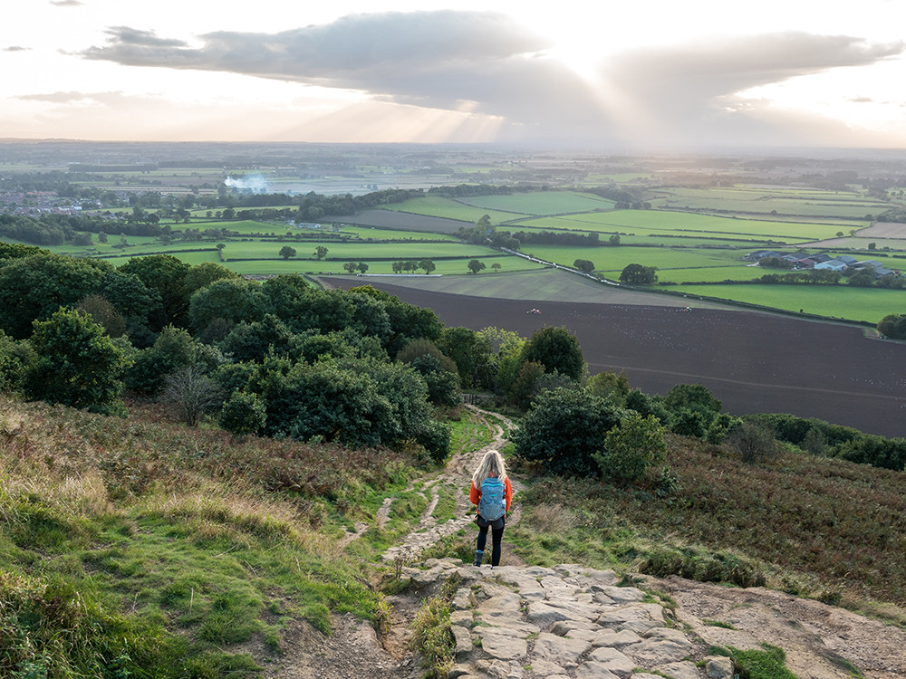
[[[770,123],[737,92],[903,51],[902,43],[775,33],[623,53],[601,64],[602,84],[548,58],[548,41],[496,13],[353,14],[281,33],[207,33],[198,46],[126,26],[107,33],[82,56],[364,91],[498,116],[528,134],[601,135],[635,118],[632,134],[644,122],[665,139],[769,136]]]

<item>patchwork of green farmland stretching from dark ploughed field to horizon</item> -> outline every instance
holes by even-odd
[[[674,163],[665,158],[595,160],[555,155],[502,161],[494,154],[447,149],[432,150],[429,159],[417,153],[404,167],[398,159],[382,158],[379,149],[358,148],[350,155],[318,147],[320,165],[314,171],[313,162],[293,160],[295,153],[304,155],[303,150],[311,148],[271,149],[273,155],[264,157],[256,148],[229,150],[231,155],[222,163],[195,167],[157,167],[153,162],[136,166],[131,157],[128,162],[77,166],[78,172],[71,173],[72,186],[86,191],[113,192],[119,185],[159,192],[159,204],[169,200],[169,212],[158,211],[159,225],[166,233],[156,237],[111,233],[107,243],[92,237],[91,245],[61,244],[51,249],[110,258],[114,263],[149,253],[171,253],[188,263],[217,262],[256,276],[337,272],[348,262],[367,264],[366,275],[393,273],[394,262],[431,259],[437,267],[434,273],[462,276],[469,281],[467,287],[476,284],[470,281],[475,276],[467,273],[467,263],[478,259],[486,269],[477,278],[493,273],[498,279],[494,289],[506,287],[500,281],[507,280],[518,289],[521,283],[506,275],[540,272],[543,264],[491,247],[483,231],[474,232],[472,243],[457,237],[487,215],[489,235],[496,237],[495,230],[501,237],[501,232],[523,232],[519,251],[544,262],[571,267],[576,260],[588,261],[598,276],[612,281],[628,264],[654,267],[660,285],[651,292],[682,292],[785,311],[805,309],[866,322],[906,308],[899,291],[850,288],[845,280],[821,288],[719,284],[776,273],[743,259],[757,250],[848,254],[856,260],[875,260],[892,271],[901,269],[906,261],[906,226],[885,221],[884,215],[902,209],[902,190],[894,185],[886,194],[873,191],[868,179],[854,181],[855,172],[841,174],[846,168],[836,161],[824,165],[837,176],[848,177],[851,184],[816,181],[811,185],[815,177],[821,179],[816,168],[822,162],[818,161],[798,166],[749,163],[742,158],[712,164],[702,159]],[[97,156],[101,158],[101,153]],[[5,169],[29,172],[44,167],[63,172],[67,167],[51,162],[36,165],[29,158],[19,158],[18,163]],[[769,168],[764,179],[753,170],[759,166]],[[889,166],[879,167],[887,171]],[[825,171],[831,174],[830,169]],[[226,218],[222,215],[227,203],[236,207],[231,215],[241,214],[242,201],[249,198],[241,187],[225,191],[227,178],[232,182],[229,186],[254,184],[286,193],[272,200],[249,200],[251,206],[266,206],[248,213],[255,218]],[[501,179],[501,186],[492,185]],[[469,181],[475,190],[469,190]],[[512,187],[503,186],[507,183]],[[389,185],[393,190],[381,193]],[[432,188],[413,194],[406,192],[409,186]],[[346,192],[347,197],[375,189],[378,193],[367,204],[369,209],[343,215],[303,208],[293,193],[326,192],[328,187],[334,195]],[[184,212],[185,218],[175,218],[176,203],[186,206],[188,216]],[[111,208],[120,219],[130,218],[133,210],[126,204]],[[588,234],[597,235],[597,246],[587,240]],[[558,242],[557,237],[562,240]],[[295,253],[284,258],[280,253],[284,246]],[[327,253],[319,259],[316,248],[326,248]],[[528,287],[541,291],[545,284]]]

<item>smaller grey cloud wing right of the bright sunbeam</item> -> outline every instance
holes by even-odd
[[[786,139],[783,117],[769,101],[742,93],[838,68],[868,66],[903,52],[903,43],[867,43],[845,35],[769,33],[623,53],[602,66],[602,78],[653,134],[693,143]],[[818,120],[822,127],[826,120]],[[795,129],[806,126],[796,120]],[[781,135],[778,137],[778,133]]]

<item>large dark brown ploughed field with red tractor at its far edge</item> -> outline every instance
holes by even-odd
[[[869,337],[867,328],[633,303],[638,298],[618,303],[613,295],[610,303],[501,300],[377,278],[323,280],[344,289],[370,284],[433,309],[450,326],[496,326],[523,337],[564,326],[579,340],[591,373],[622,371],[632,387],[647,393],[700,383],[734,415],[792,413],[868,434],[906,436],[906,343]]]

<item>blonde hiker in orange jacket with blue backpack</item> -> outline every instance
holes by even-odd
[[[472,474],[472,488],[468,493],[472,504],[477,504],[478,544],[475,565],[481,565],[487,542],[487,529],[491,529],[491,568],[500,564],[500,542],[504,537],[506,514],[513,501],[513,486],[506,476],[504,458],[496,450],[489,450]]]

